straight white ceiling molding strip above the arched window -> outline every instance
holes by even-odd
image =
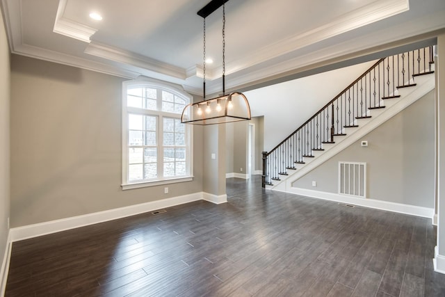
[[[132,65],[143,70],[164,74],[168,77],[174,77],[175,79],[186,79],[186,70],[181,67],[176,67],[168,63],[148,58],[147,56],[141,56],[131,51],[125,51],[99,42],[90,42],[84,52],[85,54],[105,58],[109,61]]]

